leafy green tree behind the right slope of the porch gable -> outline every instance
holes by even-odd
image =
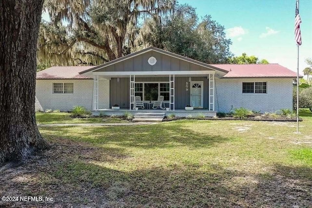
[[[138,41],[144,47],[155,46],[205,63],[226,63],[232,56],[224,27],[210,16],[198,22],[195,8],[187,4],[177,5],[160,24],[145,21]]]

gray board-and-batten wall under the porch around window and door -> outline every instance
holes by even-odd
[[[169,77],[137,77],[136,82],[169,82]],[[203,108],[208,109],[208,79],[206,77],[192,77],[192,81],[203,81]],[[112,78],[110,80],[110,107],[117,104],[120,108],[129,108],[130,95],[129,95],[129,78]],[[175,78],[175,108],[184,109],[186,105],[190,105],[190,91],[185,90],[185,83],[189,82],[189,77],[176,77]],[[169,104],[166,104],[169,107]]]

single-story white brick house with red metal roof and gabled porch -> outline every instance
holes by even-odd
[[[96,67],[51,67],[37,73],[36,107],[70,111],[78,105],[108,112],[117,104],[134,110],[139,96],[148,109],[158,95],[169,111],[191,105],[206,115],[240,107],[276,112],[292,110],[295,77],[279,64],[209,65],[149,47]]]

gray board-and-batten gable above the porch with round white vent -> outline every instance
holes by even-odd
[[[156,58],[156,64],[148,63],[150,57]],[[98,69],[95,72],[132,72],[132,71],[200,71],[211,70],[206,67],[171,57],[156,51],[146,52],[136,57],[131,57],[110,66]]]

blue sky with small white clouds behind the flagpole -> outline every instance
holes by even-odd
[[[295,0],[179,0],[196,8],[198,17],[211,15],[223,25],[235,56],[242,53],[279,63],[297,70],[297,47],[294,40]],[[312,0],[300,0],[299,14],[302,45],[299,47],[299,70],[312,57]],[[43,19],[48,19],[43,14]]]

